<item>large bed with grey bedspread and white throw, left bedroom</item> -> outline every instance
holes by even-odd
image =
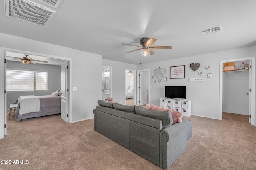
[[[61,96],[20,96],[14,114],[16,121],[32,117],[60,114]]]

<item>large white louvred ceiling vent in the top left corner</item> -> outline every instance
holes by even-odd
[[[56,12],[26,0],[5,0],[5,15],[47,27]]]

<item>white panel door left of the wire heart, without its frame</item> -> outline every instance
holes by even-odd
[[[148,104],[148,71],[139,72],[139,105]]]

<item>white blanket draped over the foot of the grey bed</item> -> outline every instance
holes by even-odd
[[[20,115],[40,111],[40,100],[37,96],[20,96],[17,104],[20,104]]]

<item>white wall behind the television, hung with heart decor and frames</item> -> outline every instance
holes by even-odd
[[[186,98],[192,101],[192,114],[213,119],[219,118],[219,71],[220,61],[227,59],[239,59],[246,57],[255,57],[256,46],[196,55],[181,59],[156,62],[138,65],[137,69],[150,68],[150,77],[154,75],[154,69],[165,68],[167,81],[159,83],[150,78],[150,104],[159,106],[159,98],[164,97],[164,86],[186,86]],[[157,56],[156,56],[157,57]],[[193,71],[190,68],[191,63],[200,63],[198,70]],[[254,63],[255,64],[255,63]],[[170,79],[170,66],[186,66],[185,78]],[[206,70],[205,66],[211,66]],[[198,72],[203,71],[200,76]],[[207,78],[207,73],[212,73],[212,78]],[[204,82],[188,82],[188,78],[204,78]],[[255,87],[254,87],[255,88]]]

